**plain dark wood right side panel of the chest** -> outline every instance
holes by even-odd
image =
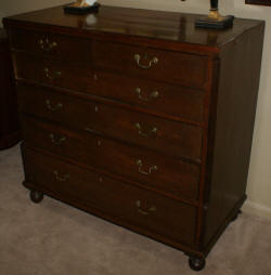
[[[233,206],[243,199],[249,166],[259,83],[264,26],[244,36],[221,53],[217,97],[216,141],[211,188],[206,213],[205,245],[221,224],[231,219]],[[251,54],[255,52],[255,54]],[[229,75],[228,71],[232,71]],[[249,79],[249,81],[247,81]],[[236,91],[245,91],[245,96]],[[224,174],[219,172],[223,169]]]

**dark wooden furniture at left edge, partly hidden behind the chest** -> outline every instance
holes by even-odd
[[[0,29],[0,149],[15,145],[20,139],[9,40],[5,31]]]

